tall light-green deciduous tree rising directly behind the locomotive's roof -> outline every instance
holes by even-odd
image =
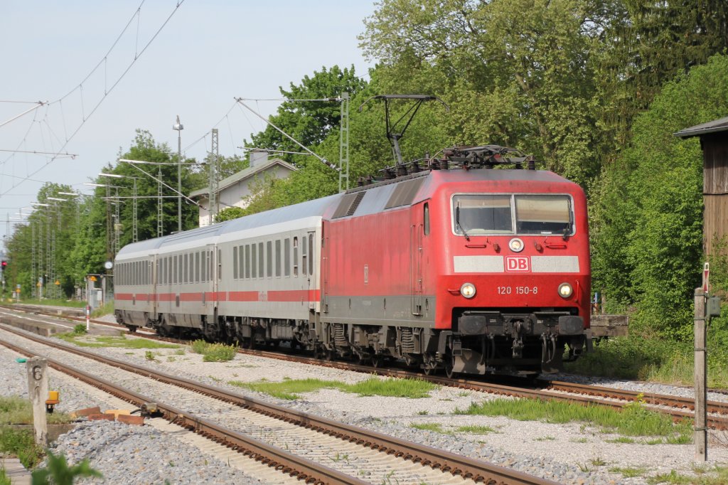
[[[534,153],[585,184],[598,173],[588,63],[598,10],[581,0],[384,0],[362,46],[384,87],[429,90],[452,108],[453,143]],[[407,74],[412,73],[412,74]]]

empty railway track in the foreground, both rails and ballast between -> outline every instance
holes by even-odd
[[[39,348],[52,347],[55,353],[63,354],[63,361],[49,359],[53,368],[73,374],[84,382],[95,383],[93,385],[103,387],[135,406],[156,402],[171,422],[209,435],[214,441],[242,450],[256,460],[264,460],[307,482],[360,484],[369,483],[371,478],[375,483],[381,483],[384,476],[400,484],[553,483],[480,460],[245,398],[218,387],[138,368],[7,326],[1,328],[12,334],[3,339],[7,347],[26,355],[37,354]],[[31,340],[31,347],[35,349],[21,348],[17,342],[9,342],[14,339]],[[99,373],[103,373],[103,379]],[[124,382],[128,383],[126,388]],[[130,390],[130,385],[143,386],[146,393],[152,395],[141,395]],[[170,396],[175,396],[179,404],[162,403]],[[334,456],[347,458],[333,460]],[[322,462],[326,465],[321,465]],[[367,481],[360,478],[361,470],[371,473]]]

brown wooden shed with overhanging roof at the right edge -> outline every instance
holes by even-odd
[[[703,250],[711,254],[713,241],[728,235],[728,117],[675,133],[700,137],[703,149]]]

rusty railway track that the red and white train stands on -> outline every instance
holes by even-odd
[[[50,317],[58,317],[44,313]],[[70,318],[70,317],[63,317]],[[82,320],[82,318],[71,318],[73,320]],[[116,323],[102,322],[100,320],[92,320],[95,324],[104,326],[112,326],[125,328]],[[144,335],[145,338],[159,339],[165,342],[178,342],[177,339],[169,339],[159,337],[156,334]],[[377,374],[379,376],[389,376],[408,379],[422,379],[437,385],[460,387],[467,390],[476,390],[483,393],[496,395],[507,395],[517,398],[533,398],[533,399],[554,399],[557,401],[570,401],[582,404],[596,404],[601,406],[611,406],[614,408],[622,408],[627,403],[641,402],[649,409],[670,414],[674,419],[689,418],[692,419],[692,411],[695,409],[695,401],[693,398],[685,398],[676,395],[666,395],[657,393],[641,393],[633,390],[621,390],[615,387],[603,387],[596,385],[576,384],[572,382],[561,381],[541,381],[536,387],[524,385],[503,385],[494,382],[484,382],[478,379],[448,379],[445,376],[427,376],[419,372],[410,371],[402,368],[374,368],[356,363],[347,363],[343,361],[320,360],[301,355],[270,352],[265,350],[240,349],[239,352],[247,355],[257,355],[260,357],[274,358],[278,360],[289,360],[298,363],[308,363],[317,366],[327,366],[339,368],[341,370],[365,372],[368,374]],[[728,430],[728,403],[721,401],[708,401],[708,426],[716,430]]]

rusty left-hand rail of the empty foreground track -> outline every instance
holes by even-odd
[[[0,344],[22,355],[36,355],[28,349],[24,349],[23,347],[19,347],[9,342],[0,341]],[[199,435],[204,435],[208,439],[222,443],[239,453],[248,455],[272,468],[280,470],[281,473],[288,473],[290,476],[297,477],[306,484],[364,485],[367,483],[365,481],[361,481],[359,478],[348,476],[345,473],[333,470],[325,465],[312,462],[311,460],[306,460],[305,458],[298,457],[295,454],[290,454],[275,446],[258,441],[255,438],[250,438],[242,433],[237,433],[234,430],[230,430],[227,427],[210,422],[207,419],[197,417],[194,414],[182,411],[174,406],[159,403],[158,401],[154,401],[144,395],[116,385],[114,382],[100,379],[97,376],[92,376],[84,371],[61,363],[59,360],[55,360],[47,356],[45,358],[51,368],[55,368],[57,371],[75,377],[76,379],[86,382],[87,384],[103,390],[106,393],[115,395],[117,398],[132,403],[135,406],[155,402],[157,404],[157,408],[162,411],[165,419],[170,422],[194,431],[194,433]]]

